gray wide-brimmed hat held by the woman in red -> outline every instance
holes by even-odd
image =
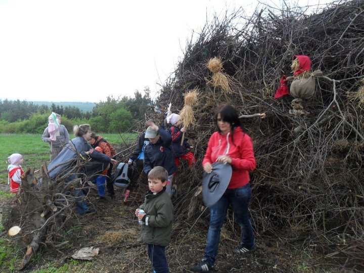
[[[230,164],[215,162],[212,171],[202,178],[202,197],[205,206],[211,207],[224,194],[230,183],[233,169]]]

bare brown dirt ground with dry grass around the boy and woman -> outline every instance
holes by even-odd
[[[139,224],[134,216],[135,208],[143,202],[146,186],[131,193],[129,204],[122,203],[123,192],[116,189],[114,199],[97,200],[93,189],[88,197],[90,206],[96,209],[92,214],[77,216],[68,223],[60,247],[42,247],[24,270],[49,268],[50,264],[61,267],[69,265],[69,272],[79,272],[80,264],[88,268],[87,272],[152,272],[148,260],[146,246],[140,241]],[[174,201],[178,202],[178,200]],[[170,272],[190,272],[191,265],[199,262],[204,253],[208,222],[174,223],[172,242],[166,254]],[[201,228],[202,227],[202,228]],[[308,256],[312,250],[304,250],[287,244],[277,237],[257,236],[257,251],[246,256],[234,255],[232,249],[238,245],[240,238],[238,229],[226,221],[221,232],[219,254],[216,261],[216,272],[320,272],[317,258],[323,253],[315,253],[315,259]],[[301,244],[297,244],[301,245]],[[78,249],[94,246],[100,248],[99,255],[89,262],[79,261],[72,267],[70,256]],[[21,256],[19,255],[19,264]],[[313,264],[316,264],[313,266]],[[72,271],[74,268],[74,271]],[[3,270],[7,271],[5,268]],[[327,267],[325,272],[332,269]],[[332,272],[338,271],[332,270]]]

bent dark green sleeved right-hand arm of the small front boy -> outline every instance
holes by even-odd
[[[144,215],[142,221],[152,228],[165,228],[173,221],[173,206],[167,202],[158,204],[157,215]]]

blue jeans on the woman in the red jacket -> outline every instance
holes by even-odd
[[[242,243],[247,248],[255,244],[253,228],[249,218],[249,203],[251,198],[250,184],[241,188],[227,189],[219,201],[210,208],[210,226],[207,233],[205,258],[213,265],[216,260],[217,248],[220,242],[220,232],[225,220],[229,204],[234,212],[235,221],[240,225]]]

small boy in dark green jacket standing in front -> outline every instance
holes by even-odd
[[[142,221],[141,239],[147,243],[148,257],[155,272],[169,272],[165,247],[172,233],[173,205],[166,193],[168,172],[163,167],[154,167],[148,173],[149,192],[144,203],[135,210]],[[144,212],[140,213],[140,209]]]

